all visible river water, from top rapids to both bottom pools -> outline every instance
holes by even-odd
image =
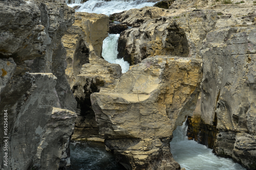
[[[67,0],[66,0],[67,1]],[[70,7],[81,6],[77,12],[89,12],[97,14],[111,15],[132,8],[142,8],[153,6],[154,2],[148,0],[89,0],[80,3],[80,0],[73,0]],[[117,43],[119,34],[109,34],[103,41],[102,56],[110,62],[120,64],[122,72],[129,69],[128,62],[117,59]],[[174,159],[187,170],[245,170],[240,164],[234,163],[231,159],[220,158],[212,153],[212,150],[196,141],[188,140],[186,136],[187,126],[185,122],[174,131],[174,138],[170,142],[170,150]],[[98,142],[72,142],[70,144],[71,168],[74,170],[98,170],[114,169],[122,170],[113,154],[106,152],[103,143]]]

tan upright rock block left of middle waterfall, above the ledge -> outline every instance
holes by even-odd
[[[74,24],[62,37],[67,50],[66,75],[71,88],[82,65],[101,58],[103,40],[109,31],[109,19],[106,15],[76,12],[75,17]]]

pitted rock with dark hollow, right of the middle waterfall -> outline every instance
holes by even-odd
[[[195,10],[179,15],[157,7],[143,7],[120,14],[122,23],[132,24],[144,10],[151,9],[151,17],[145,17],[138,28],[120,34],[118,58],[130,65],[156,55],[201,58],[199,49],[207,32],[215,28],[217,13],[212,10]],[[200,17],[199,17],[200,16]],[[127,18],[128,17],[128,18]]]

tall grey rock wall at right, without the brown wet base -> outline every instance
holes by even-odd
[[[201,49],[201,122],[219,130],[217,155],[250,169],[256,168],[255,31],[246,27],[212,31]]]

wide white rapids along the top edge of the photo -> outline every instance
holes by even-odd
[[[66,3],[68,1],[66,0]],[[74,3],[68,4],[70,7],[81,6],[76,12],[89,12],[97,14],[111,15],[114,13],[122,12],[133,8],[142,8],[144,6],[153,6],[155,2],[148,2],[148,0],[89,0],[80,3],[81,0],[75,0]]]

